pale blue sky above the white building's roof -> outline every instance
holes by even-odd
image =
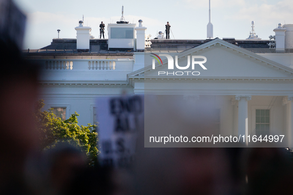
[[[40,49],[53,38],[75,38],[78,20],[84,14],[84,24],[99,35],[99,24],[116,23],[121,17],[138,24],[143,20],[147,34],[156,37],[164,31],[167,21],[176,39],[206,39],[208,0],[14,0],[28,20],[24,49]],[[256,34],[267,40],[278,23],[293,24],[292,0],[211,0],[214,38],[246,39],[255,21]],[[171,34],[171,38],[173,38]]]

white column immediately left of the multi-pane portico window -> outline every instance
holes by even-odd
[[[235,96],[238,100],[238,136],[245,135],[245,141],[248,136],[248,100],[251,96]],[[247,145],[248,143],[246,143]]]

